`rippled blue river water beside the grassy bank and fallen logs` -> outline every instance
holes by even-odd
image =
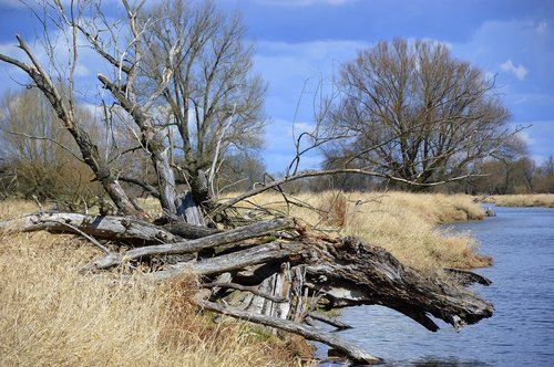
[[[384,366],[554,366],[554,209],[494,208],[497,217],[449,226],[470,231],[494,264],[474,290],[496,308],[460,333],[437,321],[437,333],[394,311],[359,306],[342,311],[353,328],[340,332]]]

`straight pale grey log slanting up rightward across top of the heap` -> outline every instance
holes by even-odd
[[[125,252],[124,254],[110,254],[95,262],[96,269],[107,269],[119,265],[124,261],[150,258],[155,255],[178,255],[183,253],[198,252],[204,249],[214,248],[222,244],[234,243],[261,237],[283,228],[290,227],[290,221],[284,218],[277,218],[269,221],[257,222],[250,226],[240,227],[223,233],[215,233],[191,241],[176,243],[151,245],[137,248]]]

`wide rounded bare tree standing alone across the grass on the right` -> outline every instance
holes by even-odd
[[[330,165],[371,167],[417,189],[474,174],[513,134],[494,78],[445,44],[383,41],[360,51],[340,76],[343,98],[328,123],[349,138],[328,151]]]

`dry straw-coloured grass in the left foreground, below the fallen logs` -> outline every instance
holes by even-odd
[[[2,202],[0,219],[33,210]],[[0,235],[0,366],[298,365],[290,338],[198,315],[193,275],[153,287],[79,274],[99,255],[70,235]]]

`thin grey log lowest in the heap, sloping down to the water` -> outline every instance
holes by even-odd
[[[246,319],[253,323],[276,327],[285,332],[294,333],[304,336],[309,340],[316,340],[324,344],[327,344],[335,349],[341,352],[346,357],[351,359],[355,363],[359,364],[380,364],[382,363],[381,358],[375,357],[370,354],[367,354],[358,346],[352,343],[346,342],[342,338],[338,337],[336,334],[320,331],[312,326],[301,325],[289,319],[269,317],[265,315],[254,314],[247,311],[225,307],[220,304],[213,302],[201,302],[198,305],[205,310],[214,311],[220,313],[223,315],[232,316],[239,319]]]

